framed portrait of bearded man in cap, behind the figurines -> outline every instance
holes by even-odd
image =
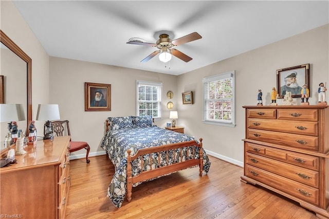
[[[309,64],[298,65],[277,70],[277,92],[278,98],[283,98],[287,92],[291,92],[291,97],[301,97],[302,88],[309,89]]]

